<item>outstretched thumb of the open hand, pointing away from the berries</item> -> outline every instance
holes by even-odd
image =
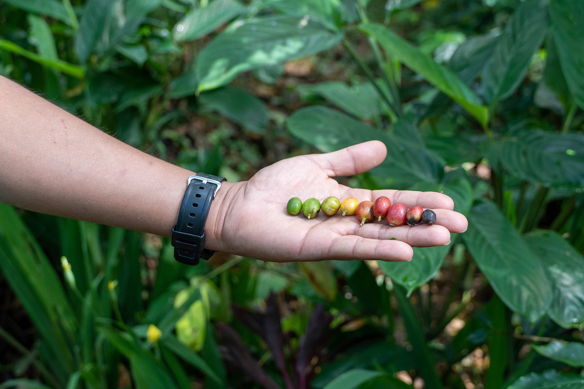
[[[308,158],[326,171],[329,177],[354,176],[381,164],[387,148],[381,141],[359,143],[326,154],[311,154]]]

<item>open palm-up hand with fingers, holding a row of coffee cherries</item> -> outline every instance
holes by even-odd
[[[387,155],[380,141],[369,141],[328,154],[293,157],[263,168],[249,181],[225,183],[211,204],[206,246],[273,262],[323,259],[380,259],[409,261],[412,246],[450,243],[450,232],[467,229],[466,218],[453,211],[446,194],[411,190],[366,190],[340,185],[332,177],[352,176],[381,164]],[[219,194],[221,196],[219,196]],[[355,216],[328,217],[322,212],[308,220],[290,216],[291,197],[319,201],[356,197],[360,202],[386,196],[391,203],[419,205],[436,212],[436,224],[390,227],[387,222],[359,227]],[[395,238],[395,240],[388,240]]]

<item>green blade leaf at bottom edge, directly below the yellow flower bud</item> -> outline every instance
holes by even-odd
[[[110,328],[100,328],[99,332],[130,360],[130,370],[136,388],[176,387],[171,375],[164,366],[154,359],[150,352],[142,349],[132,338],[126,336],[127,334]]]

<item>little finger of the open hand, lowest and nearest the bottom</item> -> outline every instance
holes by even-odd
[[[413,250],[401,241],[381,241],[356,235],[344,235],[332,242],[329,256],[331,259],[409,261],[412,259]]]

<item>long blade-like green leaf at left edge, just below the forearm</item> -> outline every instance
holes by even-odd
[[[64,287],[16,210],[0,203],[0,270],[48,346],[55,374],[75,371],[69,336],[76,321]]]

